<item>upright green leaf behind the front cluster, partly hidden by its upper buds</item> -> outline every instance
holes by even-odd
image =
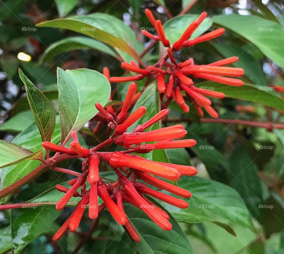
[[[159,93],[156,87],[156,83],[154,82],[144,88],[145,90],[135,103],[131,113],[138,109],[138,107],[144,106],[146,108],[146,114],[141,117],[137,122],[135,122],[132,126],[130,126],[127,132],[132,132],[138,124],[143,124],[147,122],[150,118],[154,117],[154,115],[159,112]],[[159,123],[156,123],[146,129],[146,131],[156,130],[159,129],[159,127]],[[151,161],[160,161],[167,163],[169,162],[169,159],[167,158],[167,154],[164,149],[154,150],[150,153],[139,154],[139,156],[142,156],[143,158],[146,158]]]

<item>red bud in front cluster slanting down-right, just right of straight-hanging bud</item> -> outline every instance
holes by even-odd
[[[125,225],[127,218],[123,211],[119,209],[116,203],[109,197],[107,186],[103,180],[98,182],[98,195],[104,201],[106,208],[109,210],[112,217],[121,225]]]

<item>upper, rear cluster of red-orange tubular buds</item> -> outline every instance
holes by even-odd
[[[211,64],[197,65],[194,64],[192,58],[186,60],[185,62],[177,62],[173,52],[180,50],[182,47],[191,47],[197,43],[211,40],[222,35],[225,30],[222,28],[216,29],[212,32],[201,35],[195,39],[189,39],[193,32],[199,27],[201,22],[206,18],[207,13],[203,12],[196,21],[193,21],[188,28],[185,30],[183,35],[178,41],[176,41],[172,47],[170,42],[167,40],[162,23],[160,20],[156,20],[149,9],[145,10],[146,16],[155,28],[157,35],[152,35],[151,33],[143,30],[142,33],[146,37],[161,41],[162,44],[167,47],[167,54],[162,57],[156,64],[148,66],[146,69],[142,69],[138,66],[135,61],[131,63],[123,62],[121,67],[131,72],[136,72],[138,75],[131,77],[111,77],[110,82],[127,82],[142,80],[146,76],[152,76],[157,80],[157,87],[159,93],[162,94],[162,99],[164,96],[168,99],[168,103],[172,99],[180,106],[180,108],[188,113],[189,107],[185,103],[185,99],[193,102],[197,113],[200,117],[203,117],[202,108],[204,108],[209,115],[212,117],[218,117],[217,112],[211,107],[212,102],[205,96],[210,96],[214,98],[224,98],[225,94],[220,92],[215,92],[211,90],[197,88],[193,85],[193,80],[191,79],[205,79],[214,82],[241,86],[243,81],[232,78],[240,77],[244,74],[243,69],[226,67],[226,65],[233,64],[238,61],[238,57],[230,57],[223,59]],[[170,61],[168,61],[170,59]],[[191,76],[191,77],[188,77]],[[182,91],[185,92],[185,99]],[[167,105],[167,103],[165,104]]]

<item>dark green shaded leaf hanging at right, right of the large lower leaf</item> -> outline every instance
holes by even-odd
[[[251,214],[256,217],[260,213],[259,204],[262,204],[262,188],[253,161],[244,145],[238,147],[229,158],[227,175],[230,186],[241,195]]]

